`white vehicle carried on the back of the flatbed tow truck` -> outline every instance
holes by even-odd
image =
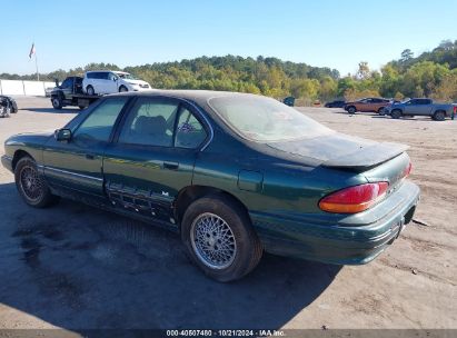
[[[151,86],[125,71],[87,71],[82,79],[82,90],[88,95],[115,93],[119,91],[150,90]]]

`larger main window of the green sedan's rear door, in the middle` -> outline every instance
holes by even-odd
[[[179,103],[140,98],[123,123],[120,143],[171,147]]]

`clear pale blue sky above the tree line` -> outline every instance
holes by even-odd
[[[0,73],[276,57],[356,72],[457,39],[457,0],[0,0]],[[6,14],[8,13],[8,14]]]

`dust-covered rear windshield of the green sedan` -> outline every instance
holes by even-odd
[[[312,138],[335,132],[270,98],[231,96],[212,98],[208,103],[234,131],[258,142]]]

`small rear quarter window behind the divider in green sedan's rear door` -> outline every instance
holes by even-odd
[[[186,108],[179,113],[175,147],[195,149],[207,138],[200,121]]]

